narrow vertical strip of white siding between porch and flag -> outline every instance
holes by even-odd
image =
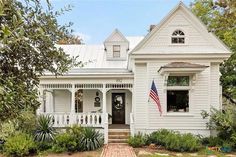
[[[135,128],[147,128],[147,65],[136,64],[134,76],[135,107],[134,121]]]

